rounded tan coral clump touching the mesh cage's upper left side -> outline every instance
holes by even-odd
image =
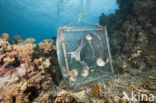
[[[56,50],[54,43],[54,40],[44,40],[39,44],[39,48],[43,50],[45,54],[49,54],[52,50]]]

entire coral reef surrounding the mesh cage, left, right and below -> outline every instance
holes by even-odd
[[[0,102],[132,103],[122,100],[123,91],[156,95],[156,1],[117,2],[120,9],[104,18],[117,75],[69,90],[58,69],[54,40],[36,45],[35,39],[17,35],[13,42],[4,33],[0,36]],[[71,74],[77,76],[77,71]],[[149,102],[143,98],[136,103]]]

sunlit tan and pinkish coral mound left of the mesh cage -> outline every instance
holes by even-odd
[[[45,54],[43,49],[33,44],[35,40],[32,38],[21,44],[19,36],[16,36],[15,43],[11,43],[8,37],[5,35],[3,39],[3,34],[0,38],[0,102],[32,102],[54,87],[53,79],[60,75],[53,72],[57,65],[57,61],[53,61],[56,60],[56,54],[53,54],[56,47],[49,44],[51,49],[48,49],[49,54]]]

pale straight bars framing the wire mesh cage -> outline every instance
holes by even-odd
[[[67,75],[69,75],[69,63],[68,63],[68,58],[67,58],[67,52],[66,52],[66,43],[65,43],[65,41],[64,41],[64,36],[63,36],[63,33],[64,32],[73,32],[73,31],[101,31],[101,32],[103,32],[103,33],[105,33],[106,34],[106,43],[107,43],[107,50],[108,50],[108,57],[109,57],[109,60],[110,60],[110,67],[111,67],[111,74],[114,74],[114,68],[113,68],[113,65],[112,65],[112,57],[111,57],[111,51],[110,51],[110,44],[109,44],[109,37],[108,37],[108,33],[107,33],[107,26],[104,26],[104,27],[102,27],[102,26],[97,26],[96,28],[90,28],[90,29],[66,29],[67,28],[67,26],[65,26],[65,27],[62,27],[62,28],[59,28],[58,29],[58,35],[60,36],[60,38],[61,38],[61,44],[62,44],[62,48],[63,48],[63,55],[64,55],[64,61],[65,61],[65,66],[66,66],[66,68],[67,68]],[[72,28],[72,27],[71,27]],[[59,62],[59,60],[58,60],[58,62]],[[59,63],[59,66],[60,66],[60,63]],[[60,66],[61,67],[61,66]],[[63,77],[64,78],[64,77]],[[99,78],[97,78],[97,79],[99,79]],[[95,79],[95,80],[97,80],[97,79]],[[65,78],[64,78],[64,80],[65,81],[67,81],[68,83],[67,83],[67,85],[69,85],[69,87],[71,87],[70,86],[70,83],[69,83],[69,80],[66,80]],[[95,80],[93,80],[93,81],[95,81]],[[87,83],[90,83],[90,82],[92,82],[92,80],[91,81],[88,81]],[[84,83],[84,84],[87,84],[87,83]],[[82,85],[81,83],[79,83],[77,86],[79,86],[79,85]]]

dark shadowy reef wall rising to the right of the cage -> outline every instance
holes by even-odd
[[[132,68],[154,69],[152,58],[156,58],[156,1],[117,0],[117,3],[119,10],[105,20],[113,58],[124,55],[124,61]]]

